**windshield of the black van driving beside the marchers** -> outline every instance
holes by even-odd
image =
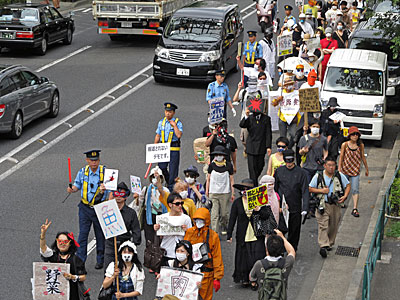
[[[165,37],[177,41],[216,42],[220,39],[222,21],[215,19],[173,18],[165,31]]]

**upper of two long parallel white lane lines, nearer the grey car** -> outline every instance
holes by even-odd
[[[68,116],[64,117],[63,119],[61,119],[60,121],[58,121],[57,123],[54,123],[53,125],[51,125],[50,127],[48,127],[47,129],[39,132],[37,135],[35,135],[34,137],[32,137],[31,139],[27,140],[25,143],[19,145],[17,148],[11,150],[10,152],[8,152],[7,154],[5,154],[4,156],[2,156],[0,158],[0,163],[2,163],[3,161],[7,160],[8,158],[14,156],[16,153],[20,152],[21,150],[23,150],[24,148],[28,147],[30,144],[36,142],[38,139],[40,139],[42,136],[48,134],[50,131],[54,130],[55,128],[57,128],[58,126],[60,126],[61,124],[67,123],[68,120],[72,119],[73,117],[75,117],[76,115],[80,114],[82,111],[85,111],[87,109],[89,109],[89,107],[91,107],[92,105],[96,104],[97,102],[99,102],[101,99],[103,99],[105,96],[115,92],[116,90],[118,90],[119,88],[121,88],[122,86],[124,86],[125,84],[127,84],[128,82],[132,81],[133,79],[135,79],[136,77],[138,77],[140,74],[146,72],[147,70],[149,70],[151,67],[153,66],[153,64],[149,64],[148,66],[144,67],[142,70],[136,72],[135,74],[133,74],[131,77],[125,79],[124,81],[122,81],[121,83],[117,84],[116,86],[114,86],[113,88],[111,88],[110,90],[106,91],[105,93],[101,94],[100,96],[98,96],[96,99],[90,101],[89,103],[83,105],[82,107],[78,108],[76,111],[74,111],[73,113],[69,114]],[[131,89],[131,91],[133,91],[134,89]],[[116,101],[116,100],[115,100]],[[115,101],[111,102],[111,103],[115,103]],[[93,116],[93,115],[92,115]],[[0,177],[2,178],[2,177]],[[5,177],[4,177],[5,178]],[[4,179],[3,178],[3,179]],[[1,181],[1,180],[0,180]]]

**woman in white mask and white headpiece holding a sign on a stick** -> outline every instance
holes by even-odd
[[[130,241],[124,242],[118,249],[118,263],[110,262],[107,267],[103,288],[107,289],[119,281],[119,291],[112,300],[137,300],[143,293],[144,270],[137,255],[136,246]]]

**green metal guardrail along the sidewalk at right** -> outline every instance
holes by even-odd
[[[364,280],[362,289],[363,300],[371,299],[370,297],[371,297],[372,275],[375,270],[376,261],[381,259],[382,239],[384,237],[385,225],[388,221],[388,218],[386,216],[390,214],[390,207],[391,207],[391,200],[389,197],[390,191],[392,188],[393,181],[396,178],[399,170],[400,170],[400,160],[397,163],[397,168],[390,182],[390,185],[387,188],[385,195],[383,196],[382,206],[379,209],[378,220],[376,221],[371,245],[369,246],[368,256],[364,265]]]

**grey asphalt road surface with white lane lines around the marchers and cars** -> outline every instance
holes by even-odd
[[[246,9],[253,1],[232,2],[243,10],[245,29],[256,28],[260,32],[254,6]],[[283,5],[293,5],[290,2],[293,1],[279,3],[281,18]],[[58,231],[73,231],[78,235],[79,195],[74,194],[61,203],[68,184],[67,157],[71,157],[75,174],[85,163],[82,153],[99,148],[102,149],[102,163],[120,170],[119,180],[129,182],[129,175],[141,176],[144,180],[145,144],[154,140],[157,122],[163,117],[162,103],[172,101],[179,107],[176,115],[184,126],[182,172],[195,164],[192,142],[201,136],[202,128],[207,125],[205,85],[154,82],[151,63],[157,38],[136,37],[111,42],[107,36],[96,33],[96,24],[87,10],[77,11],[75,22],[76,31],[70,46],[51,46],[45,56],[4,50],[0,56],[0,63],[23,64],[40,70],[42,76],[57,83],[61,96],[60,114],[56,119],[42,118],[33,122],[24,128],[19,140],[0,138],[1,299],[32,298],[32,262],[40,261],[40,225],[46,218],[53,222],[47,234],[48,244]],[[239,74],[227,77],[231,96],[239,80]],[[240,113],[233,118],[228,112],[230,132],[234,133],[238,144],[239,118]],[[395,118],[395,115],[388,115],[383,148],[376,149],[367,143],[369,159],[379,163],[382,155],[389,153],[398,130]],[[242,151],[239,145],[237,182],[248,177]],[[377,183],[379,180],[376,178]],[[323,263],[317,254],[316,237],[315,220],[306,222],[290,276],[289,299],[309,299],[312,294]],[[256,299],[256,292],[232,281],[235,245],[225,240],[221,245],[225,277],[214,299]],[[143,245],[139,251],[142,259]],[[92,299],[96,299],[103,273],[94,269],[93,252],[86,263],[86,283],[92,288]],[[144,293],[140,298],[153,299],[155,286],[154,277],[146,271]]]

